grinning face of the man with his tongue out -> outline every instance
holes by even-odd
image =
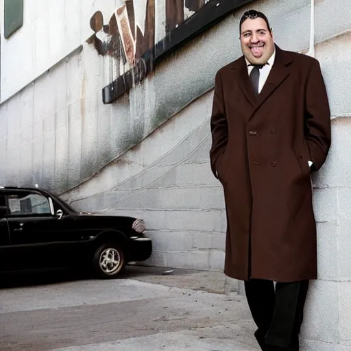
[[[274,53],[274,36],[260,17],[242,23],[240,42],[245,58],[252,64],[265,64]]]

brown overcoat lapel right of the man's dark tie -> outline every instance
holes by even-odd
[[[261,93],[256,98],[254,104],[254,110],[252,114],[261,107],[261,105],[274,93],[274,90],[284,82],[290,74],[289,64],[291,63],[291,57],[287,58],[284,55],[284,51],[276,45],[276,58],[274,64],[269,72],[267,81],[261,90]],[[250,80],[249,80],[250,82]]]

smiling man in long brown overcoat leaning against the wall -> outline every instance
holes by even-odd
[[[243,57],[216,75],[211,117],[228,223],[224,271],[245,280],[262,350],[296,351],[317,278],[311,172],[330,147],[328,98],[317,60],[275,45],[261,12],[245,12],[240,40]]]

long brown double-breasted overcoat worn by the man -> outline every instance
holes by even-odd
[[[254,96],[243,56],[215,78],[210,162],[227,213],[224,272],[293,282],[317,278],[311,169],[330,147],[330,110],[319,62],[283,51]]]

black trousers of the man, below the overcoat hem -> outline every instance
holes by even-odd
[[[263,350],[299,350],[308,280],[274,282],[250,279],[245,281],[245,293],[258,330],[256,339]],[[267,348],[266,348],[267,346]]]

